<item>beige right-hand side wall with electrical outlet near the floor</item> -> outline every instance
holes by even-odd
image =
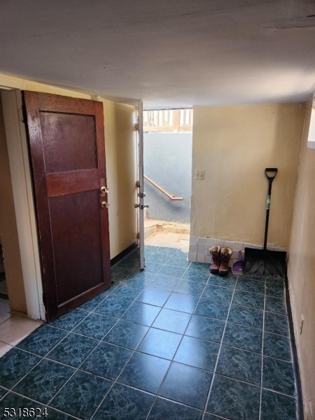
[[[302,379],[304,412],[315,419],[315,150],[307,148],[311,115],[307,104],[302,154],[289,246],[288,283],[293,312],[297,356]],[[303,321],[302,333],[300,323]]]

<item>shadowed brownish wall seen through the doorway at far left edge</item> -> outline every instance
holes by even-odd
[[[0,237],[6,270],[6,283],[10,307],[15,311],[26,312],[25,290],[15,219],[13,189],[10,178],[8,148],[4,130],[2,103],[0,96]]]

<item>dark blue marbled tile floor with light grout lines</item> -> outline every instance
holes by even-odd
[[[283,283],[154,246],[112,279],[0,359],[0,419],[297,420]]]

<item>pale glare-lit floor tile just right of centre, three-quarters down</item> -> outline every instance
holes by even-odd
[[[158,317],[153,322],[154,328],[183,334],[190,321],[190,314],[185,312],[172,311],[172,309],[162,309]]]

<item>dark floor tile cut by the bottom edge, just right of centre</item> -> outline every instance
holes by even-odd
[[[148,420],[202,420],[202,412],[187,405],[157,398],[148,416]]]

